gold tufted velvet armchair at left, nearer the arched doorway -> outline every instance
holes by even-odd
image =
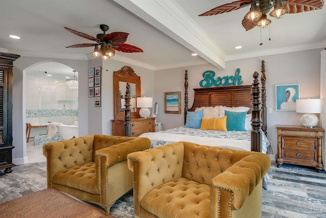
[[[98,134],[46,143],[47,187],[110,212],[115,201],[132,188],[127,154],[149,147],[148,138]]]

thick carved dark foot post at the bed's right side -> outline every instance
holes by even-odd
[[[254,72],[254,82],[251,90],[251,98],[253,108],[251,109],[252,118],[251,118],[251,151],[262,152],[262,120],[261,120],[261,108],[260,108],[260,90],[259,90],[259,81],[258,81],[258,72]]]

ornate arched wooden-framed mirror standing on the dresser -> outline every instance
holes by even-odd
[[[124,66],[113,73],[113,96],[114,96],[114,117],[115,119],[124,119],[123,100],[126,85],[130,85],[130,97],[135,99],[141,97],[141,78],[135,74],[133,69],[129,66]],[[121,101],[122,100],[122,101]],[[131,100],[132,101],[132,100]],[[134,106],[131,111],[131,118],[140,118],[139,108]]]

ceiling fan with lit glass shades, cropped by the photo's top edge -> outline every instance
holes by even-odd
[[[246,31],[256,26],[260,28],[267,27],[271,20],[267,19],[266,14],[273,7],[274,10],[269,15],[275,18],[281,18],[286,13],[293,14],[322,9],[324,2],[323,0],[240,0],[218,6],[198,16],[223,14],[249,5],[251,5],[250,11],[242,20],[242,26]]]

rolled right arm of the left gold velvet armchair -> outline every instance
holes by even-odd
[[[132,140],[116,144],[95,152],[97,156],[106,157],[106,165],[113,166],[116,163],[127,160],[127,155],[132,152],[144,151],[149,149],[151,142],[148,138],[134,138]]]

